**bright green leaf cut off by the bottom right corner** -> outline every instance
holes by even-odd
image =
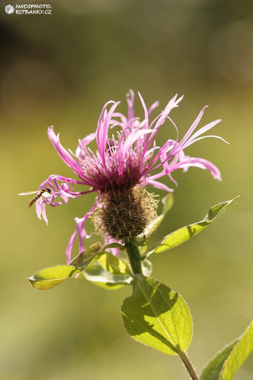
[[[253,321],[239,337],[238,343],[225,360],[220,380],[230,380],[253,351]]]

